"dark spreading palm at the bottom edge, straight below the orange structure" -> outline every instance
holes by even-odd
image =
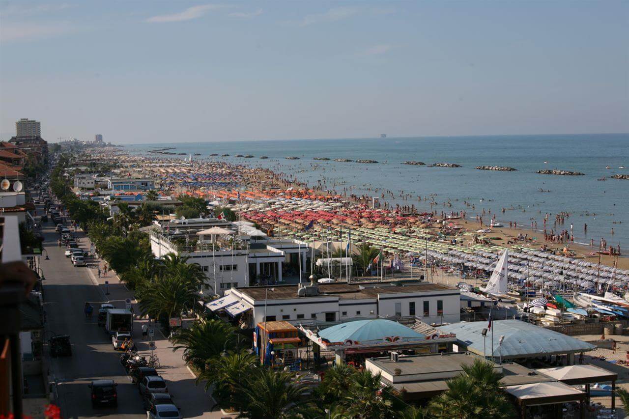
[[[301,410],[309,410],[303,399],[307,388],[304,384],[293,382],[293,377],[292,372],[257,369],[242,389],[242,416],[282,419],[295,417]]]

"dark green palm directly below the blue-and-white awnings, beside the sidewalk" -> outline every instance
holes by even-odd
[[[232,333],[236,329],[221,320],[199,320],[172,337],[172,350],[184,350],[184,359],[199,371],[205,371],[208,360],[214,359],[223,349],[233,349]]]

